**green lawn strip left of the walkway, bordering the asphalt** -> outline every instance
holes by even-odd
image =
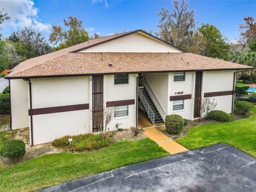
[[[82,154],[50,154],[0,167],[1,191],[31,191],[117,167],[170,155],[150,139],[116,142]]]

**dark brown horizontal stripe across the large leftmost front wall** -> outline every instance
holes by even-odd
[[[84,110],[89,109],[89,103],[69,105],[69,106],[58,106],[58,107],[45,107],[32,109],[33,115],[51,114],[51,113],[61,113],[66,111]],[[30,110],[28,110],[28,115],[30,115]]]

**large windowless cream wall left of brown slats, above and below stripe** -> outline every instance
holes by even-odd
[[[88,76],[31,79],[31,89],[33,109],[89,103]],[[87,133],[89,125],[89,109],[33,115],[34,145]]]

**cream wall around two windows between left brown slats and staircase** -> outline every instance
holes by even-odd
[[[110,131],[116,130],[115,124],[122,123],[121,128],[127,129],[136,125],[136,77],[138,74],[129,74],[129,84],[115,85],[114,75],[104,76],[103,98],[106,106],[108,101],[134,99],[134,105],[129,105],[128,116],[115,117],[108,125]]]

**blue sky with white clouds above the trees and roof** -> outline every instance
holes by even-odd
[[[101,36],[122,33],[124,30],[146,29],[155,33],[161,7],[173,9],[171,1],[32,1],[0,0],[0,9],[11,20],[4,23],[1,33],[8,37],[13,31],[33,26],[49,39],[53,25],[63,26],[68,16],[82,20],[89,35]],[[195,11],[197,27],[202,23],[217,26],[231,42],[239,38],[239,23],[245,16],[256,19],[256,1],[188,1],[189,10]]]

